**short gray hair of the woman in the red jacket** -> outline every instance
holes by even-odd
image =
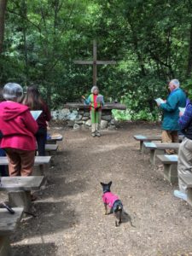
[[[20,84],[8,83],[3,87],[3,98],[7,101],[17,101],[22,95],[23,89]]]

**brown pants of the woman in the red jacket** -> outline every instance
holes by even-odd
[[[30,176],[35,160],[35,150],[4,148],[9,160],[9,176]]]

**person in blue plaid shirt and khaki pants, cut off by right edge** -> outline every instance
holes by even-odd
[[[178,149],[177,173],[179,190],[174,190],[174,195],[187,200],[187,187],[181,179],[182,175],[191,174],[192,166],[192,103],[189,102],[184,113],[180,112],[179,127],[184,135]]]

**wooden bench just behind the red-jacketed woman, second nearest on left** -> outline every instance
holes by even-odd
[[[40,189],[43,183],[43,176],[1,177],[0,190],[8,191],[11,207],[24,207],[28,212],[32,204],[31,190]]]

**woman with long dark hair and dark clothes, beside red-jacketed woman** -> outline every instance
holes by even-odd
[[[29,86],[26,90],[26,96],[22,103],[31,110],[42,110],[36,120],[38,123],[38,132],[36,133],[36,140],[38,143],[38,155],[45,155],[45,144],[47,140],[47,125],[51,119],[49,108],[39,94],[36,86]]]

